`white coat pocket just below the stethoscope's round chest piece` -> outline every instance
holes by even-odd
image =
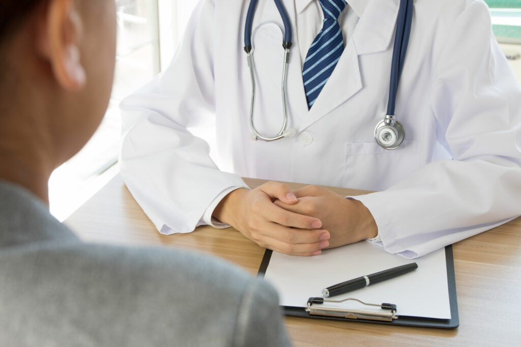
[[[383,190],[398,183],[420,165],[420,141],[404,140],[399,148],[393,150],[383,149],[376,142],[348,144],[344,187]]]

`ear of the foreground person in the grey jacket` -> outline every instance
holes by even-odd
[[[82,22],[74,0],[49,0],[42,11],[38,52],[48,60],[61,87],[79,91],[86,78],[80,55]]]

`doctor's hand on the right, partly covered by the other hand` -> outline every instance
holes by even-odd
[[[287,204],[276,200],[279,207],[311,217],[322,222],[322,228],[331,234],[329,247],[376,237],[378,227],[365,205],[353,199],[345,199],[326,188],[306,186],[294,191],[298,202]]]

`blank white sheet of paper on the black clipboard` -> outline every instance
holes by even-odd
[[[418,263],[413,272],[330,299],[386,302],[396,304],[398,316],[450,319],[444,249],[414,260],[387,253],[366,241],[324,250],[311,257],[273,252],[265,279],[278,290],[280,305],[305,307],[309,298],[321,297],[324,288],[412,262]],[[328,306],[364,309],[351,301]]]

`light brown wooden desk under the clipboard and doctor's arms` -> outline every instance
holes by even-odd
[[[251,187],[264,181],[246,179]],[[292,188],[303,185],[291,184]],[[343,195],[361,194],[333,188]],[[162,245],[215,254],[257,273],[264,249],[232,228],[160,235],[118,175],[65,223],[85,241]],[[521,218],[454,245],[460,327],[453,330],[287,317],[295,345],[519,345]]]

